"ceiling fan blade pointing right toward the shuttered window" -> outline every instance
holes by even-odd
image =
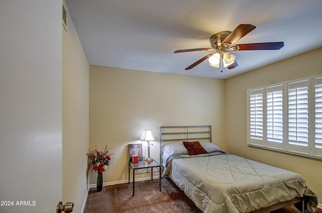
[[[233,45],[229,48],[232,51],[239,50],[279,50],[284,47],[284,42],[268,42],[268,43],[254,43],[254,44],[240,44]]]

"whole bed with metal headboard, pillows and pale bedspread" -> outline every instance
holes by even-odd
[[[160,164],[205,213],[262,213],[300,203],[313,213],[317,196],[301,175],[222,151],[211,126],[161,126]]]

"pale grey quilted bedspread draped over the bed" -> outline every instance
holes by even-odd
[[[170,157],[169,176],[203,212],[251,212],[316,194],[301,175],[229,153]],[[306,212],[313,212],[310,206]]]

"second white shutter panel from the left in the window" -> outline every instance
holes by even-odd
[[[283,142],[283,85],[267,88],[267,140]]]

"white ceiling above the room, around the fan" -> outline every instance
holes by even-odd
[[[227,79],[322,47],[321,0],[66,0],[90,65]],[[67,23],[68,24],[68,23]],[[235,44],[284,42],[280,50],[239,51],[238,67],[214,72],[209,38],[239,24],[257,28]],[[305,62],[303,62],[305,69]]]

